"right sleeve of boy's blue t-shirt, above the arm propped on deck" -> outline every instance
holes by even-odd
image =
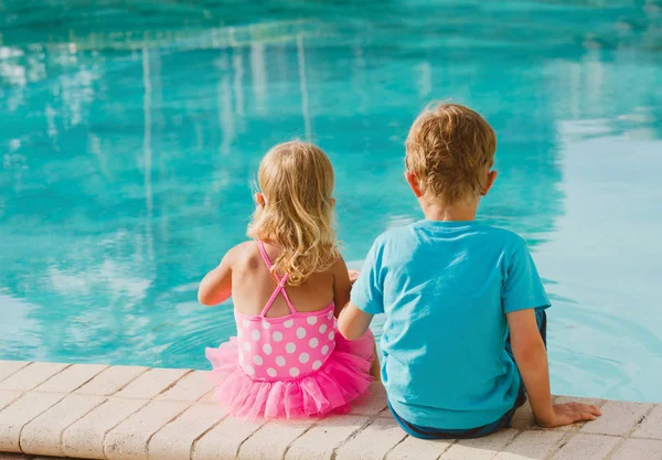
[[[501,301],[504,313],[527,309],[545,309],[551,306],[533,257],[531,257],[524,242],[511,255]]]

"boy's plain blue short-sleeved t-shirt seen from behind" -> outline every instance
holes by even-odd
[[[511,409],[521,385],[505,313],[549,307],[524,240],[477,222],[421,221],[374,243],[352,302],[385,313],[382,378],[405,420],[466,429]]]

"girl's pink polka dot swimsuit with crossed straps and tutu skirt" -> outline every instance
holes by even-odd
[[[257,245],[270,269],[264,244]],[[342,338],[333,303],[298,312],[286,291],[288,276],[274,276],[278,285],[261,313],[248,315],[235,309],[237,338],[218,349],[206,349],[217,400],[246,419],[345,411],[372,381],[374,338],[370,332],[352,342]],[[266,318],[278,296],[290,314]]]

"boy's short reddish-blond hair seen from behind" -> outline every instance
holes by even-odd
[[[496,136],[476,111],[459,104],[439,104],[414,121],[405,142],[407,171],[423,195],[446,204],[477,197],[485,168],[494,163]]]

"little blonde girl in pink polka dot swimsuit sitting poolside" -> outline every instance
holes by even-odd
[[[217,400],[234,416],[302,418],[345,411],[371,381],[374,338],[349,342],[335,318],[351,281],[332,227],[333,169],[319,148],[274,147],[258,171],[248,227],[209,272],[199,300],[232,296],[237,338],[207,349]]]

